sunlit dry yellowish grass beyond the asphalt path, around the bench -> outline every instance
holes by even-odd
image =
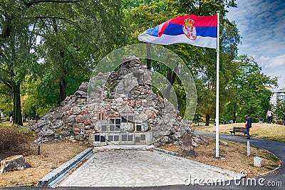
[[[219,125],[219,132],[230,134],[230,130],[233,127],[244,127],[244,123],[232,123],[227,125]],[[200,123],[200,126],[193,124],[193,129],[197,131],[215,132],[216,127],[214,125],[204,126]],[[242,133],[236,133],[236,135],[244,135]],[[266,123],[253,123],[250,129],[250,135],[259,139],[274,140],[279,142],[285,142],[285,126]]]

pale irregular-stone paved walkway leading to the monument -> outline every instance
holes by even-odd
[[[109,150],[93,154],[58,186],[166,186],[237,176],[232,171],[160,152]]]

